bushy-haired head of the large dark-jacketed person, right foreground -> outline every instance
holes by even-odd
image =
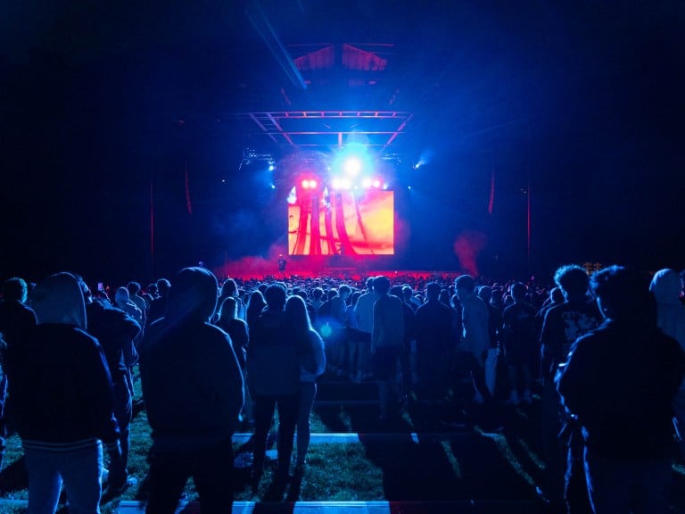
[[[656,324],[656,300],[649,292],[648,279],[641,273],[610,266],[592,275],[590,288],[605,318]]]

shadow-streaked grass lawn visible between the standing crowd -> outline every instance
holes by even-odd
[[[336,392],[336,387],[342,392]],[[255,496],[248,484],[249,468],[238,470],[235,500],[530,502],[542,509],[535,493],[545,478],[536,403],[503,410],[503,431],[488,432],[475,426],[445,433],[446,427],[419,406],[392,422],[378,421],[377,407],[367,402],[372,393],[373,386],[344,385],[325,379],[319,398],[327,401],[312,413],[312,432],[359,433],[359,439],[347,444],[311,444],[304,476],[293,481],[285,492],[272,487],[273,462]],[[336,402],[338,396],[365,401]],[[128,465],[137,483],[118,496],[105,495],[103,512],[114,512],[121,500],[145,500],[150,444],[150,427],[142,411],[131,424]],[[235,444],[235,451],[241,450]],[[685,469],[680,462],[673,469],[673,512],[685,512]],[[27,484],[21,441],[12,435],[0,473],[0,498],[25,500]],[[195,498],[194,485],[189,481],[184,499]],[[0,513],[22,511],[21,506],[9,502],[0,504]]]

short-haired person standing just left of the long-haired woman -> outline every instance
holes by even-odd
[[[268,286],[267,308],[250,325],[247,350],[247,382],[254,401],[254,457],[252,492],[256,493],[264,472],[268,430],[278,408],[277,486],[285,485],[290,473],[293,435],[300,410],[300,360],[285,317],[285,287]]]

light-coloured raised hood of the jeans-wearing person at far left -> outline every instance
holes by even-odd
[[[42,280],[31,292],[31,307],[38,324],[74,325],[86,330],[86,303],[78,278],[56,273]]]

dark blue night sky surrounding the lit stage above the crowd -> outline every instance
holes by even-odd
[[[411,230],[392,266],[458,269],[455,239],[478,233],[481,269],[502,278],[566,262],[685,268],[681,1],[1,10],[3,278],[70,269],[147,282],[201,260],[267,257],[281,228],[257,170],[239,164],[246,147],[282,149],[235,113],[338,109],[414,112],[400,151],[432,156],[403,172],[417,195],[401,195]],[[286,49],[392,45],[387,68],[373,86],[340,70],[302,90],[255,12]]]

